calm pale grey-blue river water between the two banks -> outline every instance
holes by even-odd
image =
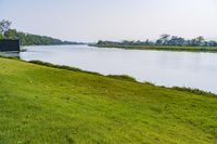
[[[23,60],[40,60],[104,75],[129,75],[166,87],[217,93],[217,53],[100,49],[88,45],[25,47]]]

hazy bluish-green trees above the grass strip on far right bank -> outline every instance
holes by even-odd
[[[206,41],[203,36],[187,40],[178,36],[170,36],[167,34],[161,35],[156,41],[146,39],[145,41],[128,41],[122,42],[102,41],[99,40],[99,45],[189,45],[189,47],[217,47],[217,41]]]

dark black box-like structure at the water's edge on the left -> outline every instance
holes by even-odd
[[[20,40],[9,40],[2,39],[0,40],[0,52],[5,51],[20,51],[21,49]]]

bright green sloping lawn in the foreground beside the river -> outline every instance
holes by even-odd
[[[0,144],[217,143],[215,95],[67,69],[0,57]]]

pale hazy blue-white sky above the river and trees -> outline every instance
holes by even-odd
[[[0,0],[0,19],[62,40],[217,40],[217,0]]]

